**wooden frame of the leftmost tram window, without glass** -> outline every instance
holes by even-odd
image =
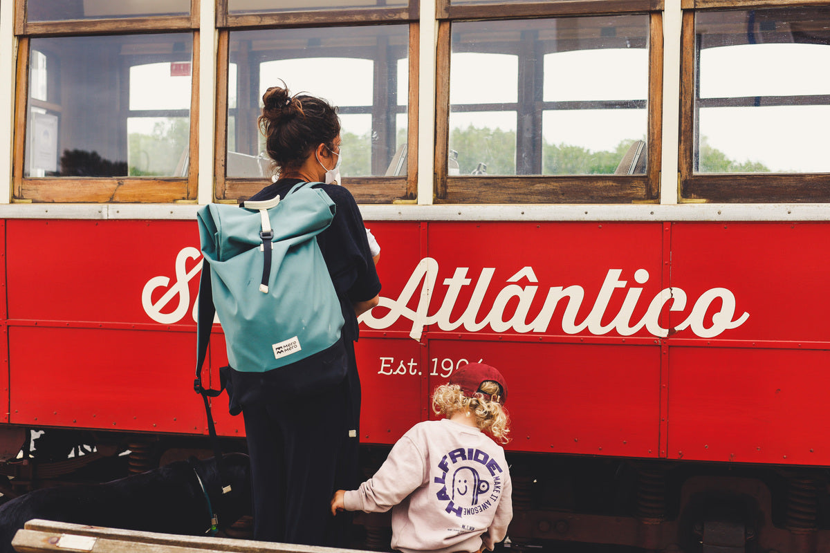
[[[195,203],[198,182],[199,0],[189,16],[124,17],[27,22],[25,0],[15,0],[17,80],[12,160],[12,201],[55,203]],[[193,36],[188,177],[24,177],[30,40],[47,36],[191,32]]]

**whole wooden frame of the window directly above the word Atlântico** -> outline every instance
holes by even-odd
[[[647,0],[652,2],[652,0]],[[639,0],[632,0],[641,7]],[[598,12],[597,2],[530,2],[528,4],[492,4],[485,6],[452,6],[442,0],[439,12],[447,16],[479,17],[483,10],[492,13],[537,9],[544,17],[557,15],[621,15],[631,13],[621,9],[628,2],[600,2],[603,12]],[[644,175],[545,175],[545,176],[448,176],[449,114],[450,114],[450,54],[452,50],[451,26],[454,19],[444,19],[438,26],[437,50],[437,98],[436,98],[436,148],[434,158],[434,194],[436,203],[657,203],[660,196],[660,169],[662,143],[662,92],[663,92],[663,32],[662,2],[659,7],[649,4],[648,35],[648,98],[647,98],[647,173]],[[590,8],[590,12],[587,10]],[[616,12],[608,12],[618,9]],[[636,10],[635,10],[636,12]],[[524,12],[523,12],[524,13]],[[459,17],[461,17],[459,15]],[[492,17],[490,17],[492,19]],[[511,17],[510,19],[514,19]],[[517,133],[518,134],[518,133]]]

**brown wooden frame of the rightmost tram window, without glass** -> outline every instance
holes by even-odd
[[[680,197],[681,203],[801,203],[830,202],[830,173],[696,173],[695,96],[696,44],[695,15],[703,9],[749,9],[752,7],[804,7],[828,2],[727,2],[726,0],[683,0],[681,31],[681,121]],[[701,9],[693,9],[694,7]]]

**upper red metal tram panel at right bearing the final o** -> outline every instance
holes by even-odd
[[[675,223],[671,285],[686,292],[689,304],[671,313],[671,325],[684,320],[695,298],[718,287],[735,298],[730,320],[743,313],[748,318],[707,340],[828,342],[830,294],[822,293],[830,281],[828,240],[827,223]],[[721,305],[720,299],[712,303],[705,327]],[[676,337],[695,335],[686,328]]]

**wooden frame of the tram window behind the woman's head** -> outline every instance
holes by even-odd
[[[230,32],[252,30],[258,28],[279,29],[291,27],[345,27],[344,20],[340,19],[344,13],[352,14],[346,17],[347,22],[384,22],[388,24],[408,23],[408,65],[409,89],[407,109],[407,175],[404,177],[346,177],[343,185],[349,188],[355,201],[361,204],[388,204],[395,201],[414,201],[417,196],[417,69],[418,69],[418,25],[413,21],[412,7],[407,8],[374,8],[372,10],[349,10],[317,12],[290,12],[276,14],[227,15],[227,0],[218,0],[217,26],[219,31],[217,51],[217,90],[216,90],[216,141],[214,151],[214,200],[222,202],[237,202],[253,196],[263,187],[261,178],[227,177],[227,99],[228,99],[228,68],[230,61]],[[417,2],[410,2],[417,7]],[[359,13],[357,13],[359,12]],[[366,13],[392,13],[395,17],[369,17],[359,19],[357,15]],[[338,16],[337,14],[341,14]],[[416,16],[417,17],[417,13]],[[279,22],[277,24],[276,22]]]

